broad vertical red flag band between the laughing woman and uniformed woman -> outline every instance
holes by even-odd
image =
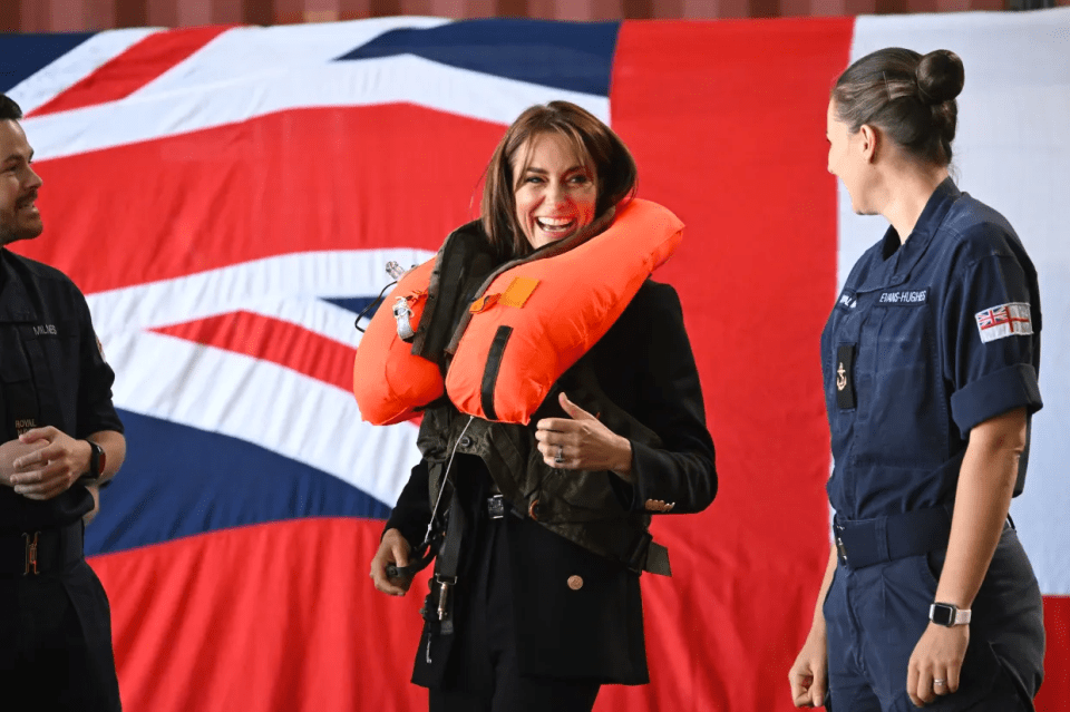
[[[828,560],[825,110],[852,31],[850,18],[621,29],[613,126],[641,195],[687,223],[656,279],[683,301],[720,491],[702,515],[655,518],[673,577],[643,577],[652,684],[609,687],[600,710],[795,709],[787,672]]]

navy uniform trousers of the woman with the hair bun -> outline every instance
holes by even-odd
[[[836,568],[825,598],[829,710],[914,712],[906,692],[914,646],[928,625],[946,552]],[[1040,588],[1018,533],[1005,528],[973,603],[959,691],[925,709],[1033,710],[1043,675]]]

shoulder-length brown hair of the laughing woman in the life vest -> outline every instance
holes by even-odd
[[[526,109],[505,131],[490,156],[479,206],[483,228],[503,259],[532,251],[516,220],[517,176],[513,160],[521,147],[539,134],[564,136],[577,156],[590,158],[599,181],[597,215],[635,192],[638,174],[631,152],[620,136],[594,115],[568,101],[551,101]],[[517,173],[523,175],[524,169],[526,166],[521,166]]]

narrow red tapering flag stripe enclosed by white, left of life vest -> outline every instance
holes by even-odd
[[[357,350],[286,321],[239,311],[153,331],[271,361],[353,390]]]

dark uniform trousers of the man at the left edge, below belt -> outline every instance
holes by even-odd
[[[35,712],[120,709],[108,597],[85,559],[0,576],[0,691]]]

